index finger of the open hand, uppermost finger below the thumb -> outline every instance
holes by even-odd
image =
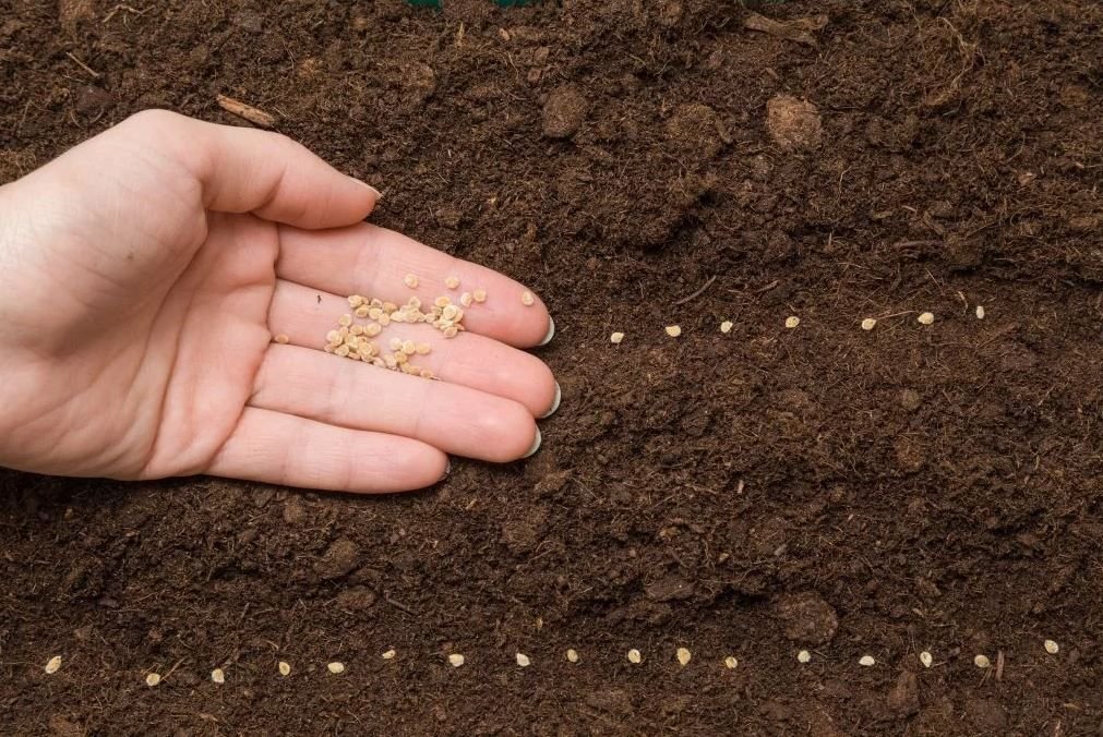
[[[280,227],[276,273],[303,286],[395,304],[405,304],[411,296],[424,304],[438,296],[460,304],[469,294],[464,326],[522,348],[544,345],[555,334],[544,302],[523,284],[366,223],[324,231]],[[483,302],[475,301],[481,296],[478,292],[485,293]]]

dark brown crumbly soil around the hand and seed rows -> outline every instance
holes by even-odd
[[[757,10],[827,23],[0,0],[0,182],[239,98],[537,289],[564,390],[403,498],[3,474],[3,731],[1101,734],[1103,8]]]

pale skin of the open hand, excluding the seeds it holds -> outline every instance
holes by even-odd
[[[364,223],[378,198],[276,133],[139,113],[0,187],[0,466],[419,489],[539,445],[552,319],[526,286]],[[418,277],[417,290],[403,283]],[[321,350],[345,296],[482,288],[439,381]],[[272,342],[286,335],[287,345]]]

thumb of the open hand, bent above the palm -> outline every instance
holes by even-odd
[[[173,150],[199,182],[207,209],[254,213],[299,228],[335,228],[363,220],[379,198],[374,187],[279,133],[165,110],[139,112],[117,130],[126,128],[140,128],[140,134]]]

